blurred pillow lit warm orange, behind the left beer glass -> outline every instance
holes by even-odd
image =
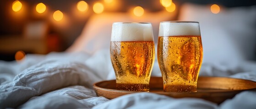
[[[174,20],[176,11],[169,13],[166,10],[145,13],[142,17],[135,17],[131,13],[103,13],[93,15],[82,30],[82,34],[68,48],[68,52],[86,51],[95,53],[98,50],[109,49],[112,24],[114,22],[150,22],[153,25],[154,41],[158,41],[159,23]]]

